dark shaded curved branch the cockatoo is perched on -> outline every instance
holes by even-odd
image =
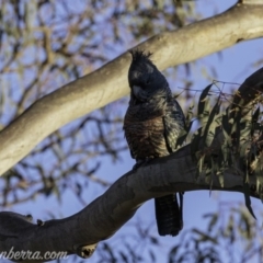
[[[36,226],[22,220],[18,214],[0,213],[0,252],[13,248],[13,251],[39,251],[42,256],[46,251],[80,254],[80,248],[114,235],[146,201],[174,192],[208,190],[209,180],[199,178],[196,181],[196,169],[190,146],[186,146],[126,173],[71,217]],[[214,178],[213,190],[243,192],[243,178],[235,171],[226,172],[224,184],[221,187],[219,180]]]

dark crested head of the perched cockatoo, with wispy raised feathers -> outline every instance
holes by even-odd
[[[152,98],[165,96],[170,91],[164,76],[150,60],[151,54],[141,50],[130,52],[133,60],[128,71],[128,82],[132,98],[146,102]]]

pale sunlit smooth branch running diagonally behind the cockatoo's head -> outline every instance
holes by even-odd
[[[262,13],[263,4],[239,3],[220,15],[156,35],[138,47],[152,52],[162,70],[263,36]],[[0,174],[59,127],[126,95],[129,64],[125,53],[34,103],[0,133]]]

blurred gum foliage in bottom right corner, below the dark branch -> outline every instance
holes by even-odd
[[[242,204],[220,203],[218,214],[206,214],[205,231],[184,231],[168,262],[261,262],[261,226]]]

